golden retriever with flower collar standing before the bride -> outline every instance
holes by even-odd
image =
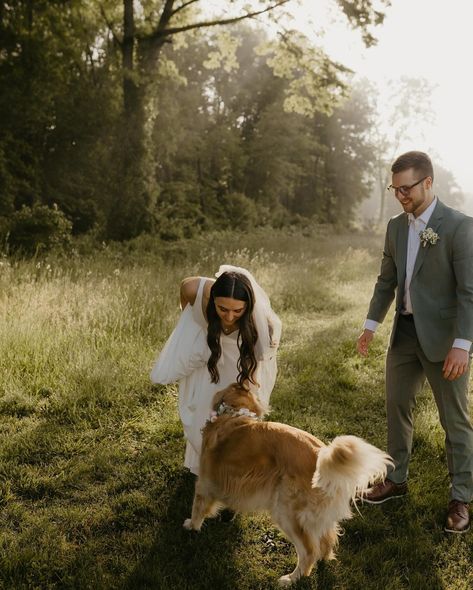
[[[213,408],[184,527],[200,530],[223,506],[269,511],[296,548],[296,568],[279,579],[288,586],[310,575],[318,560],[334,558],[338,522],[352,516],[357,494],[386,476],[390,457],[356,436],[325,445],[303,430],[262,422],[265,408],[236,383],[215,394]]]

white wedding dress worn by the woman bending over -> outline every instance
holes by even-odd
[[[242,270],[242,269],[240,269]],[[246,271],[247,272],[247,271]],[[176,328],[172,332],[151,371],[153,383],[173,383],[179,381],[179,414],[187,439],[184,465],[192,473],[199,473],[199,457],[202,445],[201,429],[211,411],[214,394],[234,383],[238,377],[237,363],[238,331],[229,335],[221,333],[222,354],[217,363],[220,381],[212,383],[207,368],[210,349],[207,345],[207,320],[202,309],[204,285],[209,279],[200,278],[194,305],[187,305],[181,313]],[[256,307],[256,306],[255,306]],[[264,405],[276,381],[276,351],[279,345],[281,324],[276,314],[271,312],[271,347],[264,354],[257,355],[258,367],[255,380],[259,387],[252,390]],[[268,323],[266,322],[266,329]],[[259,340],[258,332],[258,340]],[[258,358],[258,356],[260,358]]]

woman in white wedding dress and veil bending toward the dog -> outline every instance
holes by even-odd
[[[182,281],[181,316],[151,371],[153,383],[179,381],[184,465],[196,475],[214,394],[237,381],[267,407],[281,336],[281,322],[250,272],[223,265],[215,276]]]

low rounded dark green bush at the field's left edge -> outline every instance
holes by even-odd
[[[71,231],[72,223],[56,206],[23,206],[9,220],[7,243],[13,252],[32,255],[68,245]]]

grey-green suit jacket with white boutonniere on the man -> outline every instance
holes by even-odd
[[[430,217],[439,236],[419,247],[410,295],[417,336],[431,362],[443,361],[455,338],[473,341],[473,218],[439,200]],[[408,217],[389,220],[386,241],[368,318],[382,322],[396,298],[392,345],[406,280]]]

